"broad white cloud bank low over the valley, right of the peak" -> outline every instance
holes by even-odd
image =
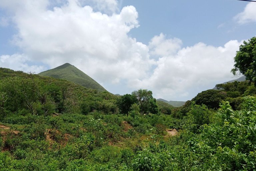
[[[161,36],[161,35],[160,35]],[[162,40],[169,42],[172,40]],[[242,42],[229,41],[224,47],[214,47],[204,43],[180,49],[160,57],[157,67],[149,78],[133,80],[137,88],[153,90],[156,98],[191,99],[202,90],[213,88],[220,80],[232,79],[230,70],[233,58]],[[178,47],[166,44],[164,49]],[[160,44],[162,48],[162,45]],[[158,47],[156,47],[158,48]]]

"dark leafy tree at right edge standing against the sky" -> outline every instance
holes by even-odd
[[[256,85],[256,37],[248,42],[244,41],[234,57],[234,68],[231,72],[234,75],[239,73],[245,75],[246,79]]]

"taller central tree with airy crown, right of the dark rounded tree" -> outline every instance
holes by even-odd
[[[158,113],[156,99],[153,98],[152,91],[139,89],[137,91],[133,91],[132,95],[137,99],[140,107],[140,114]]]

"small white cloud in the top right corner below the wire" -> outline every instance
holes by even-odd
[[[234,19],[238,24],[256,22],[256,3],[250,2],[244,8],[244,11],[237,14]]]

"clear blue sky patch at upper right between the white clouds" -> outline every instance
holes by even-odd
[[[249,39],[256,34],[255,23],[237,25],[233,20],[248,2],[237,0],[158,2],[123,1],[122,5],[133,5],[139,13],[140,27],[130,32],[138,41],[148,43],[153,35],[165,33],[169,37],[181,39],[184,46],[192,46],[198,42],[221,46],[230,40]]]

